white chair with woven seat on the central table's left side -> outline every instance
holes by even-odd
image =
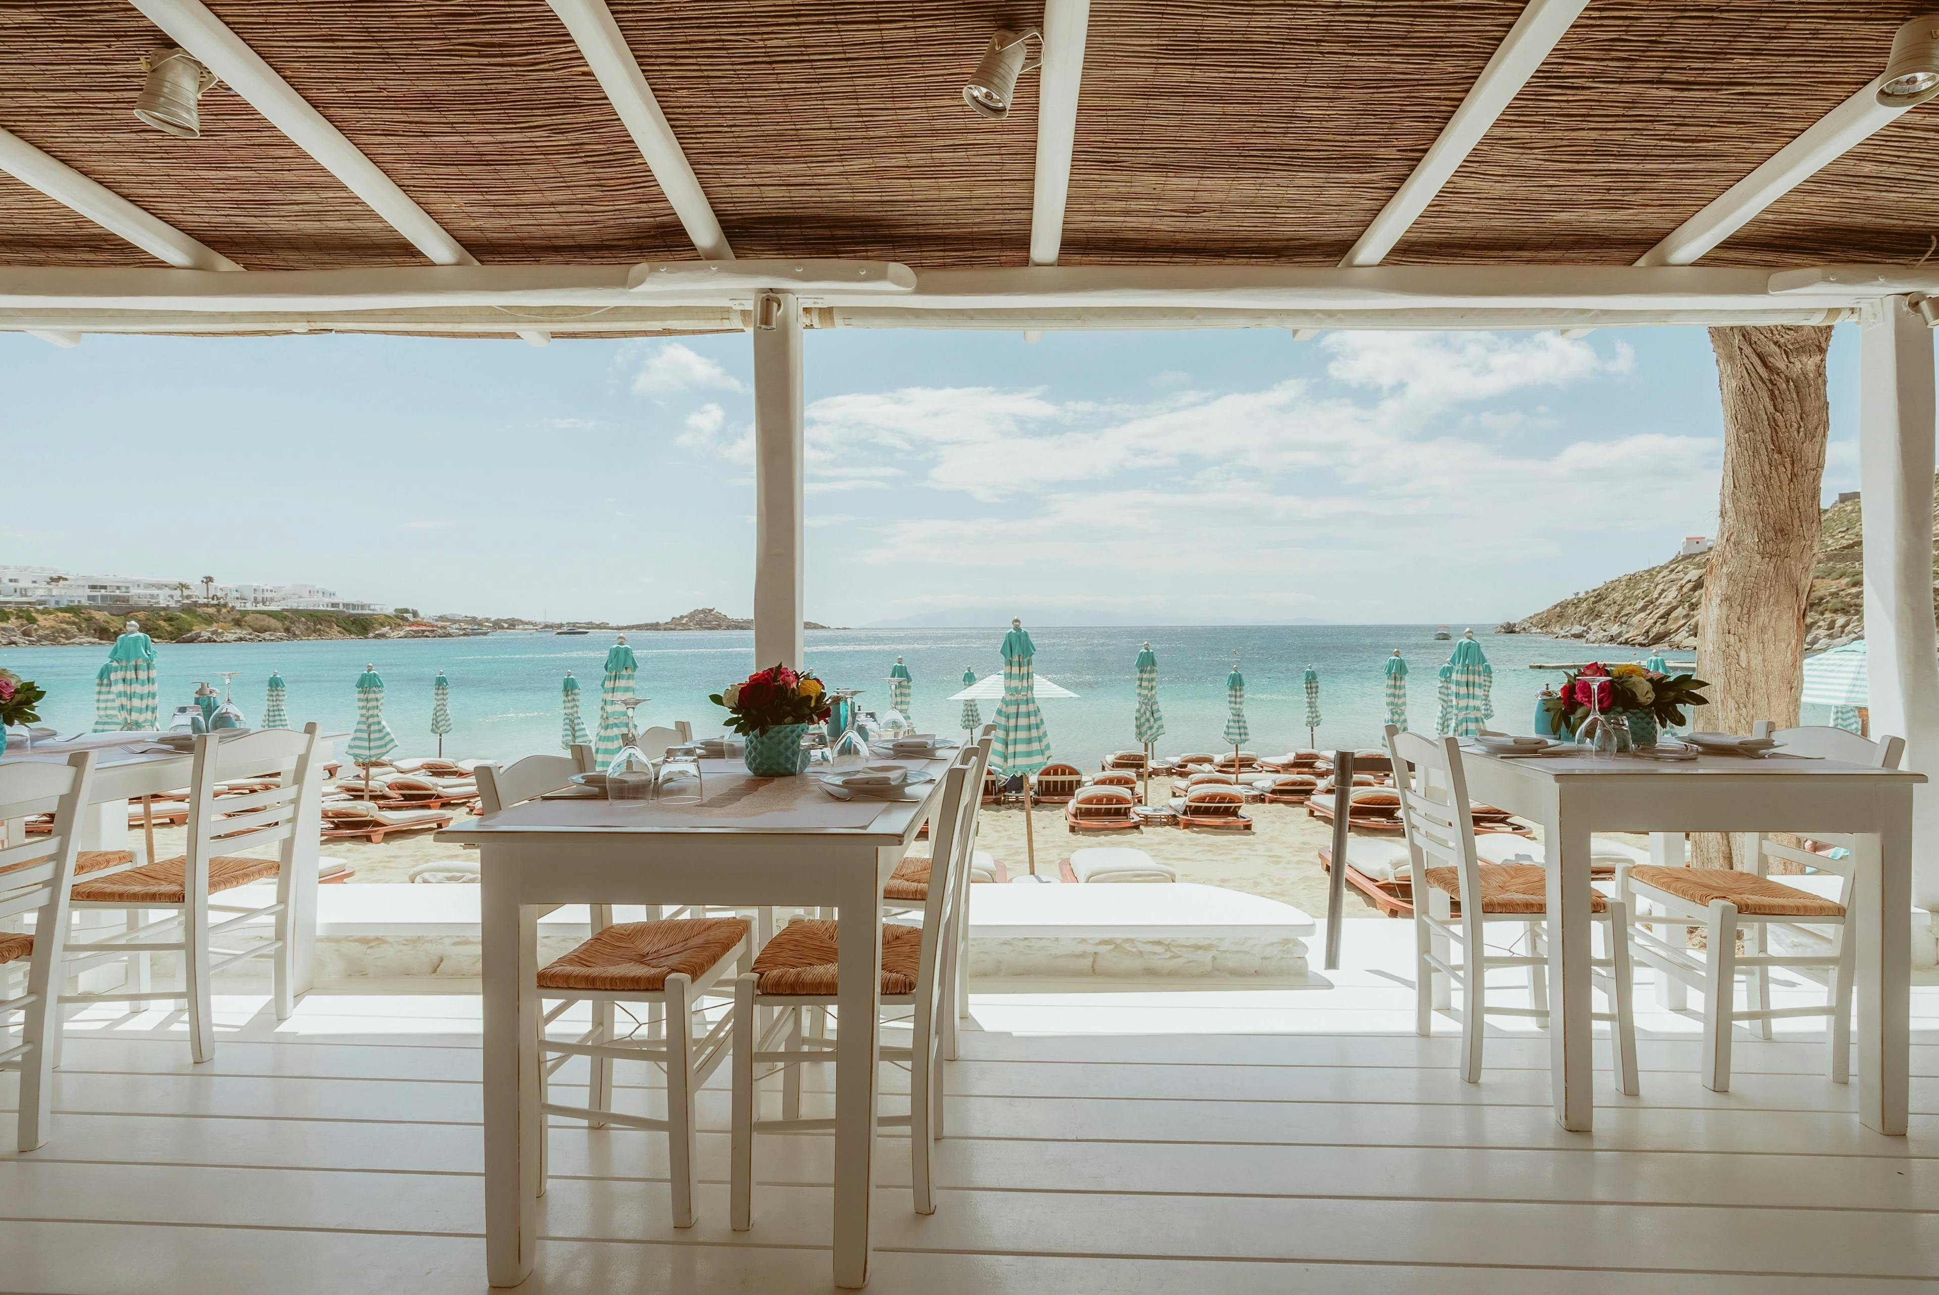
[[[572,787],[572,775],[589,772],[589,746],[570,756],[525,756],[502,770],[479,770],[479,801],[496,814],[522,801]],[[752,956],[752,923],[741,917],[659,917],[615,923],[613,907],[589,905],[591,936],[564,958],[537,971],[539,991],[539,1111],[586,1121],[589,1128],[620,1124],[667,1134],[673,1192],[673,1225],[694,1225],[694,1095],[727,1058],[733,1022],[712,1027],[694,1014],[735,963]],[[553,1039],[545,1027],[576,1002],[591,1004],[591,1027],[572,1039]],[[551,1006],[549,1006],[551,1004]],[[644,1004],[644,1037],[620,1037],[615,1018],[620,1004]],[[586,1105],[551,1101],[549,1080],[574,1057],[588,1058]],[[613,1062],[644,1060],[667,1074],[667,1117],[648,1119],[613,1111]],[[545,1194],[545,1136],[539,1136],[539,1194]]]

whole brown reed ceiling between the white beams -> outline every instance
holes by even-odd
[[[1037,76],[960,89],[1037,0],[609,0],[739,256],[1022,266]],[[209,0],[487,264],[692,256],[543,0]],[[1883,66],[1931,0],[1594,0],[1392,264],[1627,264]],[[1065,264],[1336,264],[1522,0],[1094,0]],[[202,140],[138,122],[167,39],[122,0],[0,4],[0,128],[246,269],[423,256],[227,89]],[[1939,105],[1832,163],[1702,264],[1918,260]],[[0,264],[153,266],[0,174]]]

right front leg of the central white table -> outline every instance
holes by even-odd
[[[836,1010],[836,1285],[869,1283],[874,1247],[876,1010],[882,989],[882,884],[871,851],[842,876]]]

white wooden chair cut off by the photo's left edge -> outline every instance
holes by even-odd
[[[60,1051],[62,946],[68,886],[79,855],[81,812],[95,779],[95,752],[66,764],[0,764],[0,1070],[19,1070],[19,1150],[43,1146],[52,1128],[54,1055]],[[52,814],[54,830],[10,832],[29,814]],[[33,913],[33,934],[10,931]],[[19,1043],[8,1043],[19,1016]]]

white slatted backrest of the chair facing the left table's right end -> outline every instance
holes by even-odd
[[[316,760],[314,723],[302,733],[258,729],[223,739],[196,739],[188,781],[188,888],[207,900],[209,859],[273,845],[283,876],[297,859],[297,822],[306,801],[322,795],[324,766]],[[217,797],[225,779],[260,774],[258,791]]]

